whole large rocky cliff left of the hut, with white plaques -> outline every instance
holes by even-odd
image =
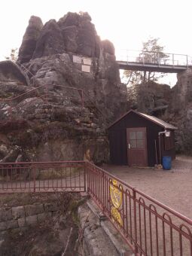
[[[31,17],[17,64],[0,63],[0,86],[1,161],[108,160],[105,127],[126,111],[126,87],[89,14]]]

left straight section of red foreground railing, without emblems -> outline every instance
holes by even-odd
[[[83,161],[0,163],[0,194],[85,191]]]

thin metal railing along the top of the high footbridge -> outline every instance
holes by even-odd
[[[137,50],[120,50],[116,54],[117,61],[137,62],[143,65],[155,64],[159,66],[191,66],[192,58],[184,54],[158,53]]]

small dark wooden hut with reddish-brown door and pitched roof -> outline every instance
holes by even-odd
[[[130,110],[108,127],[111,163],[154,166],[175,159],[177,128],[157,117]]]

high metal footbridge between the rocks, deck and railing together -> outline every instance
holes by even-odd
[[[116,56],[119,69],[179,73],[192,67],[192,57],[184,54],[123,50]]]

